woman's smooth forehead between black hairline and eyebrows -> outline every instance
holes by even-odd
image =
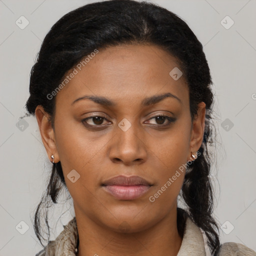
[[[57,93],[56,103],[61,99],[71,104],[83,94],[123,101],[170,92],[184,99],[188,95],[186,81],[182,75],[174,80],[170,75],[173,68],[181,69],[173,56],[155,45],[98,49],[69,70],[67,75],[75,74]]]

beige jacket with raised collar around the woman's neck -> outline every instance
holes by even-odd
[[[75,256],[77,244],[77,228],[75,217],[64,226],[63,231],[54,241],[35,256]],[[186,218],[184,235],[177,256],[210,256],[206,238],[201,229],[189,218]],[[256,256],[252,249],[235,242],[221,245],[219,256]]]

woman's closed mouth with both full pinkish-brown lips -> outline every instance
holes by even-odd
[[[116,199],[133,200],[146,193],[152,184],[139,176],[119,175],[104,181],[101,186]]]

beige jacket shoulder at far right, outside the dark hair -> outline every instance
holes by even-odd
[[[219,256],[256,256],[256,252],[241,243],[225,242],[221,244]]]

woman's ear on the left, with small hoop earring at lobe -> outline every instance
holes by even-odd
[[[55,144],[54,130],[49,121],[49,114],[44,111],[41,105],[37,105],[35,108],[35,116],[48,158],[52,162],[51,155],[53,154],[54,163],[56,163],[59,161],[59,156]]]

